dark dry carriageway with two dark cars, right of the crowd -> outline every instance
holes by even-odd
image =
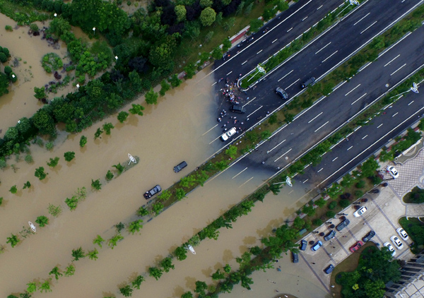
[[[239,123],[237,126],[248,129],[256,122],[256,119],[265,117],[267,112],[272,112],[281,106],[283,104],[281,98],[274,93],[277,86],[284,88],[289,95],[300,94],[302,81],[310,76],[316,78],[324,76],[331,68],[356,52],[365,42],[372,40],[379,32],[387,30],[391,24],[422,2],[423,0],[404,1],[403,3],[399,0],[367,1],[354,13],[326,32],[325,35],[269,74],[266,81],[258,84],[258,88],[247,91],[247,95],[242,95],[241,105],[244,105],[247,109],[244,116],[246,116],[245,119],[249,118],[249,121],[243,121],[243,125]],[[393,7],[396,7],[396,9],[393,9]],[[282,44],[282,46],[284,45]],[[252,54],[256,54],[254,52],[256,49],[252,52],[252,49],[254,49],[252,46],[253,44],[244,52],[241,52],[239,56],[242,54],[247,59]],[[223,73],[230,73],[231,71],[239,73],[240,67],[241,64],[237,65],[232,60],[228,61],[218,69],[216,78],[220,78]],[[225,88],[225,81],[216,83],[216,88]],[[228,109],[229,106],[230,104],[227,104],[223,99],[220,109]],[[219,114],[217,114],[217,117],[219,117]],[[237,118],[242,119],[242,117]],[[217,137],[223,133],[221,126],[217,126],[217,129],[213,131]]]

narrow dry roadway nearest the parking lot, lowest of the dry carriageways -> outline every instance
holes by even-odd
[[[341,141],[331,152],[322,157],[317,166],[305,169],[305,174],[295,179],[303,183],[308,179],[313,186],[324,186],[333,183],[359,162],[372,155],[420,119],[424,112],[423,93],[406,93],[391,108],[386,109],[379,117],[375,117],[366,126],[362,126],[348,141]]]

